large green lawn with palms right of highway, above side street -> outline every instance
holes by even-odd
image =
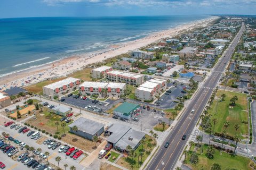
[[[211,106],[211,109],[209,110],[209,113],[212,114],[212,119],[217,118],[217,123],[215,124],[214,132],[221,132],[223,129],[223,123],[227,120],[229,121],[230,125],[227,128],[227,133],[229,135],[234,136],[235,135],[235,128],[234,125],[238,123],[240,125],[240,128],[237,130],[237,134],[242,133],[242,135],[248,134],[248,124],[242,123],[242,121],[247,122],[247,100],[245,94],[238,94],[234,92],[229,91],[222,91],[218,90],[216,97],[221,99],[221,95],[225,94],[226,98],[224,101],[213,101],[213,105]],[[230,98],[233,96],[237,96],[238,100],[236,101],[236,105],[234,107],[231,107],[230,104]],[[212,123],[213,124],[213,123]]]

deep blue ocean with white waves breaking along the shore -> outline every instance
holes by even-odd
[[[0,19],[0,77],[206,18],[210,16]]]

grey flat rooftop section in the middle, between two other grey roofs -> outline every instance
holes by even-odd
[[[107,141],[110,143],[117,143],[130,129],[131,127],[123,124],[114,124],[108,129],[112,134],[107,138]]]

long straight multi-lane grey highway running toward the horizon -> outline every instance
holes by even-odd
[[[186,146],[189,135],[192,133],[199,119],[199,116],[203,112],[207,101],[212,95],[214,88],[221,77],[221,74],[225,71],[225,67],[230,61],[231,55],[233,54],[235,47],[238,44],[244,31],[244,23],[237,33],[236,37],[231,41],[227,50],[223,53],[220,61],[212,69],[211,74],[203,82],[202,86],[199,86],[197,93],[194,95],[193,99],[190,101],[189,105],[179,118],[179,121],[174,126],[173,130],[167,136],[166,140],[159,147],[156,155],[153,156],[151,162],[148,164],[146,169],[174,169],[184,147]],[[195,113],[192,114],[191,110],[194,109]],[[186,140],[182,140],[182,135],[186,134]],[[165,142],[169,141],[170,145],[165,148]]]

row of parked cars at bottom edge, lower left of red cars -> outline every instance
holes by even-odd
[[[33,168],[33,169],[37,169],[37,170],[50,170],[52,169],[50,166],[39,163],[38,160],[36,160],[33,157],[29,157],[28,156],[29,153],[26,152],[24,154],[21,154],[17,161],[23,163],[24,165],[27,165],[28,168]],[[41,157],[41,155],[39,155]]]

